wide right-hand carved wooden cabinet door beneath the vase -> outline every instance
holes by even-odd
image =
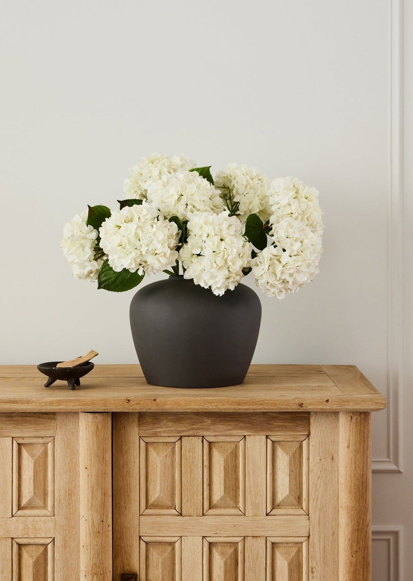
[[[305,413],[113,414],[115,581],[308,581],[308,478]]]

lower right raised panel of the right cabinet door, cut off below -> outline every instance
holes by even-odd
[[[308,539],[267,539],[266,552],[266,581],[308,581]]]

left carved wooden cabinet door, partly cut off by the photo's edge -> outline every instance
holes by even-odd
[[[79,579],[78,415],[0,414],[2,581]]]

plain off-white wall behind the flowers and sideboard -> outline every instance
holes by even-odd
[[[397,389],[387,381],[386,230],[396,4],[4,1],[0,363],[91,348],[99,363],[136,361],[133,292],[74,280],[58,244],[87,203],[115,207],[129,167],[158,150],[315,185],[326,224],[321,274],[286,300],[261,295],[254,361],[352,363],[386,396]],[[389,458],[387,467],[397,468],[396,432],[397,414],[375,415],[373,456]],[[375,475],[375,518],[407,522],[383,512],[389,479],[403,490],[409,482]]]

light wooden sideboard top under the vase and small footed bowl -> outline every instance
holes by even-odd
[[[176,389],[148,385],[140,365],[95,365],[71,391],[44,387],[35,365],[0,365],[0,412],[376,411],[386,399],[354,365],[251,365],[242,385]]]

